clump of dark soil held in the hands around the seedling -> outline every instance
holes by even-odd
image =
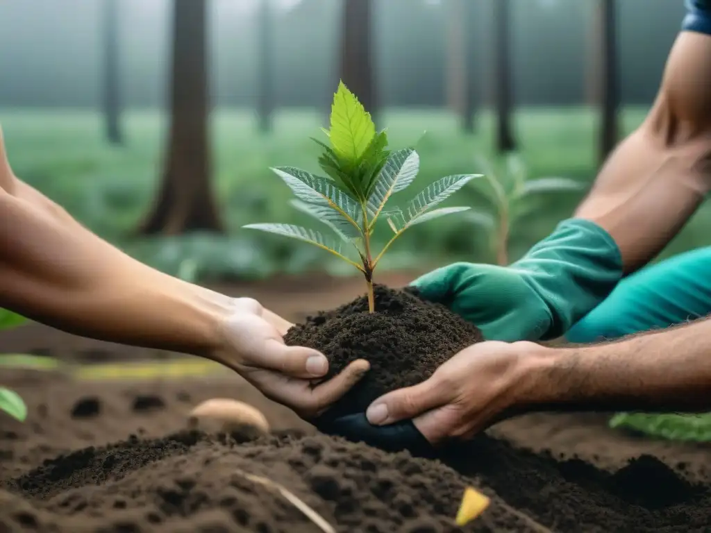
[[[357,359],[370,372],[339,402],[329,417],[365,411],[386,392],[429,378],[460,350],[483,340],[481,331],[439,303],[420,298],[416,289],[375,286],[375,313],[367,296],[309,316],[284,336],[288,345],[308,346],[328,357],[327,377]]]

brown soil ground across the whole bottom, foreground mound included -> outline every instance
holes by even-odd
[[[707,447],[640,441],[590,415],[508,421],[430,461],[316,434],[230,373],[133,384],[54,373],[4,381],[26,398],[30,416],[25,424],[0,418],[3,533],[319,533],[238,470],[286,486],[338,532],[460,531],[453,518],[466,485],[492,504],[464,531],[537,531],[531,520],[559,533],[705,532],[711,524]],[[134,411],[145,397],[160,402]],[[210,397],[261,409],[274,436],[186,431],[190,409]],[[78,404],[96,403],[92,416],[73,416]]]

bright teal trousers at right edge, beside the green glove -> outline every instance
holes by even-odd
[[[711,247],[646,266],[565,335],[571,343],[616,339],[711,314]]]

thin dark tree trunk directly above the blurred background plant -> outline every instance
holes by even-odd
[[[493,0],[494,18],[494,78],[496,80],[496,149],[500,153],[515,151],[516,141],[511,128],[510,74],[510,9],[509,0]]]

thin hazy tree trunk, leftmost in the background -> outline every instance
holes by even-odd
[[[119,0],[104,4],[104,118],[106,138],[111,144],[123,144],[119,75]]]

